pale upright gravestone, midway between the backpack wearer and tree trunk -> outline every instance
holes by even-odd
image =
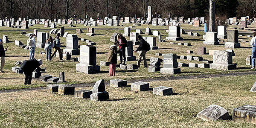
[[[166,37],[168,41],[182,41],[180,37],[180,26],[169,26],[169,36]]]

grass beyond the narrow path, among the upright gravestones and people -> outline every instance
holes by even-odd
[[[77,34],[75,29],[82,29],[84,33],[77,34],[79,38],[85,38],[89,39],[90,41],[96,42],[97,47],[97,65],[100,65],[100,61],[106,61],[108,58],[108,52],[109,52],[109,46],[113,44],[109,39],[113,32],[120,32],[124,33],[124,27],[132,26],[132,24],[124,24],[124,26],[96,26],[95,33],[96,35],[94,37],[89,37],[86,35],[87,33],[87,26],[82,26],[77,24],[77,27],[71,28],[67,25],[65,26],[65,32],[69,32],[70,34]],[[61,26],[57,26],[57,28],[60,28]],[[136,29],[141,29],[143,32],[145,32],[145,28],[149,27],[151,29],[160,29],[159,32],[163,35],[162,39],[165,39],[168,36],[168,33],[165,29],[167,29],[167,26],[151,26],[151,25],[142,25],[142,26],[136,26]],[[231,27],[231,26],[230,26]],[[250,27],[250,26],[249,26]],[[118,28],[118,29],[116,29]],[[202,27],[193,27],[188,24],[182,24],[181,28],[183,29],[203,29]],[[50,28],[47,28],[49,30],[42,30],[46,29],[43,27],[43,25],[35,25],[30,26],[27,33],[32,33],[33,29],[38,29],[38,32],[49,32]],[[7,31],[6,31],[7,30]],[[8,30],[19,30],[10,32]],[[8,51],[6,51],[6,64],[4,66],[4,71],[6,73],[0,73],[0,90],[8,90],[8,89],[20,89],[20,88],[30,88],[30,87],[46,87],[47,83],[41,82],[38,79],[32,80],[32,85],[23,85],[24,75],[23,74],[16,74],[12,73],[11,67],[14,67],[14,63],[19,60],[28,60],[29,59],[29,50],[24,50],[22,48],[19,48],[15,45],[15,40],[20,40],[23,44],[26,44],[26,40],[28,37],[25,35],[19,35],[20,31],[23,31],[23,29],[13,29],[13,28],[7,28],[5,26],[0,27],[0,37],[3,37],[3,35],[8,35],[8,38],[11,43],[3,44],[4,47],[8,47]],[[135,32],[135,29],[132,28],[131,32]],[[189,32],[189,31],[186,31]],[[247,31],[251,32],[251,31]],[[188,36],[187,34],[181,35],[182,38],[184,38],[184,41],[173,41],[173,42],[182,42],[182,43],[191,43],[192,46],[186,47],[182,45],[177,44],[170,44],[170,41],[167,42],[158,42],[158,37],[156,37],[156,44],[158,49],[157,50],[150,50],[146,54],[147,63],[150,63],[150,57],[158,57],[162,58],[162,56],[155,55],[156,52],[159,53],[174,53],[177,55],[189,55],[186,53],[186,50],[192,50],[194,53],[190,54],[193,56],[202,56],[205,60],[212,61],[212,55],[197,55],[197,48],[204,46],[207,48],[207,53],[209,53],[209,49],[215,49],[215,50],[226,50],[224,48],[224,42],[227,41],[221,40],[220,45],[217,46],[211,46],[211,45],[204,45],[203,44],[203,31],[198,31],[200,36]],[[55,35],[51,35],[52,37],[55,37]],[[142,36],[147,36],[143,35]],[[150,35],[153,36],[153,35]],[[155,37],[155,36],[154,36]],[[61,37],[61,43],[62,47],[61,49],[64,49],[66,47],[66,39]],[[129,40],[129,37],[127,37],[127,40]],[[239,37],[239,41],[250,41],[250,38],[247,38],[247,36]],[[241,42],[240,42],[241,43]],[[79,41],[79,45],[86,45],[87,43]],[[138,47],[135,46],[135,47]],[[134,47],[134,49],[136,49]],[[35,58],[42,59],[43,65],[42,68],[47,67],[47,70],[45,73],[42,73],[42,75],[52,75],[52,76],[58,76],[58,72],[64,71],[66,80],[70,84],[79,84],[79,83],[94,83],[95,81],[99,79],[105,79],[105,81],[109,81],[111,79],[143,79],[143,78],[157,78],[157,77],[166,77],[170,75],[163,75],[160,74],[160,72],[150,73],[148,72],[148,68],[143,68],[143,65],[141,65],[141,68],[138,70],[128,71],[128,70],[121,70],[119,68],[116,68],[116,76],[115,77],[109,77],[108,76],[108,66],[101,66],[101,73],[98,74],[84,74],[84,73],[76,73],[76,64],[79,62],[71,62],[71,61],[59,61],[58,57],[54,57],[53,61],[47,62],[45,55],[39,54],[39,52],[44,51],[44,49],[35,49]],[[53,49],[52,49],[53,51]],[[215,74],[215,73],[231,73],[231,72],[244,72],[244,71],[255,71],[250,70],[251,66],[245,65],[245,58],[247,55],[251,55],[251,47],[250,44],[247,43],[241,43],[241,48],[234,49],[234,52],[236,56],[233,56],[233,63],[237,64],[236,70],[229,70],[229,71],[218,71],[218,70],[212,70],[212,69],[201,69],[201,68],[188,68],[188,67],[181,67],[181,73],[175,74],[174,76],[184,76],[184,75],[201,75],[201,74]],[[138,56],[138,53],[134,53],[134,56]],[[79,55],[72,56],[73,58],[79,57]],[[183,62],[186,64],[189,64],[189,62],[200,64],[202,62],[199,61],[187,61],[187,60],[180,60],[177,59],[178,62]],[[119,63],[119,61],[118,61]],[[127,64],[137,64],[137,61],[128,61]],[[143,64],[143,62],[141,63]],[[163,63],[162,63],[163,65]]]

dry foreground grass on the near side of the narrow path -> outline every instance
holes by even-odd
[[[131,91],[106,86],[110,100],[92,102],[46,90],[0,93],[0,127],[5,128],[254,128],[232,120],[207,122],[196,114],[220,105],[232,116],[233,108],[256,105],[250,88],[255,76],[233,76],[150,82],[150,87],[172,87],[174,95],[157,96],[152,90]],[[92,87],[76,88],[92,89]]]

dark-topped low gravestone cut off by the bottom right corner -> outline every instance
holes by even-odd
[[[233,109],[233,122],[256,124],[256,106],[244,105]]]

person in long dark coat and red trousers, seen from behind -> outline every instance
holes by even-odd
[[[108,55],[108,60],[109,62],[109,76],[116,76],[116,63],[117,63],[117,46],[119,44],[115,43],[109,47],[109,55]]]

